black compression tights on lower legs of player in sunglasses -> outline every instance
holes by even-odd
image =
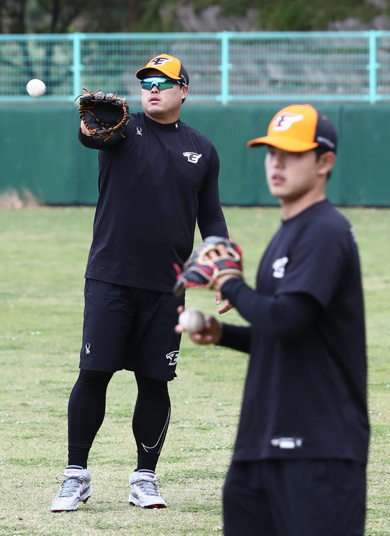
[[[86,468],[106,409],[107,385],[114,373],[80,370],[68,405],[68,464]],[[171,415],[168,384],[136,374],[138,397],[133,434],[137,443],[137,469],[155,470]]]

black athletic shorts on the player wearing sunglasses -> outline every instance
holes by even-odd
[[[80,368],[176,376],[180,335],[177,308],[184,297],[86,279]]]

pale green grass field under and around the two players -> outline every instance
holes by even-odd
[[[354,225],[364,275],[371,422],[366,536],[390,533],[390,210],[342,210]],[[226,208],[253,284],[277,208]],[[89,460],[93,496],[77,512],[52,514],[66,465],[67,404],[77,377],[84,268],[93,208],[0,210],[0,535],[212,536],[222,534],[221,486],[231,458],[247,357],[182,339],[172,418],[158,465],[166,510],[127,503],[136,463],[134,379],[118,372]],[[187,306],[214,313],[214,293]],[[240,323],[234,312],[226,321]],[[315,535],[313,535],[315,536]]]

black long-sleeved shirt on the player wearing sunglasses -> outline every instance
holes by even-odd
[[[164,125],[142,112],[99,149],[99,198],[86,277],[171,292],[173,264],[187,260],[196,222],[202,238],[228,236],[219,201],[219,158],[204,135],[181,121]]]

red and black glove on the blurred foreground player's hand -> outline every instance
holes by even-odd
[[[224,244],[227,254],[221,256],[216,246]],[[214,250],[218,254],[214,259],[205,259],[205,255]],[[178,264],[173,266],[178,273],[173,287],[175,296],[180,296],[189,286],[201,286],[210,289],[219,275],[234,274],[242,277],[242,256],[240,247],[224,236],[208,236],[195,248],[192,255],[180,270]]]

